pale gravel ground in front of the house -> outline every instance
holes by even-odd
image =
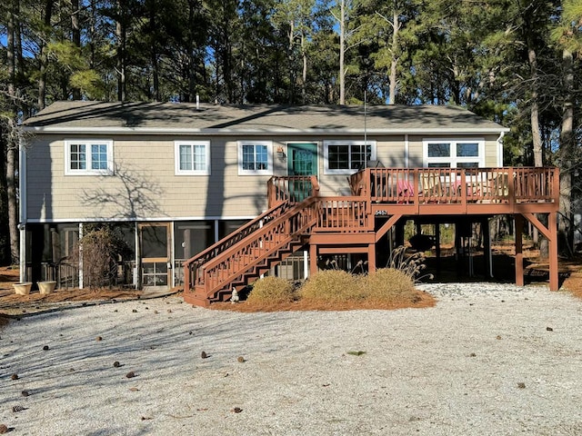
[[[436,307],[238,313],[168,297],[24,317],[0,332],[0,424],[15,435],[582,434],[580,300],[541,286],[422,288]]]

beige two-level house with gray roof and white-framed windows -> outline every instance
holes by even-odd
[[[502,167],[508,129],[454,106],[59,102],[25,130],[22,281],[83,286],[79,237],[110,223],[127,243],[117,284],[168,288],[266,211],[272,176],[315,174],[334,196],[367,166]]]

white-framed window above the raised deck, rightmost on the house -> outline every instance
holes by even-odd
[[[423,140],[423,163],[428,168],[485,166],[483,138],[435,138]]]

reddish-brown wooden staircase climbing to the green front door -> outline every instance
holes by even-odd
[[[254,282],[308,243],[319,207],[316,178],[289,179],[280,180],[295,187],[298,181],[308,180],[302,183],[308,192],[297,194],[295,189],[294,197],[289,197],[288,186],[277,186],[277,179],[272,179],[268,193],[273,207],[184,263],[185,302],[207,307],[227,301],[233,287]],[[301,198],[305,200],[296,203]]]

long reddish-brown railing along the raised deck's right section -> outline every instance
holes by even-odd
[[[366,168],[354,195],[375,203],[557,203],[555,167]]]

